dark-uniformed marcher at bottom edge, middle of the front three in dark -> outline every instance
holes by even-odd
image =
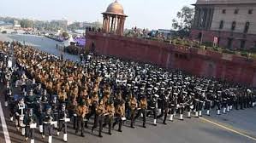
[[[49,134],[48,143],[52,142],[52,130],[53,130],[53,115],[51,112],[51,106],[46,106],[45,114],[43,115],[43,134],[42,138],[45,139],[45,134]]]

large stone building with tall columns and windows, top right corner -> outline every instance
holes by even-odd
[[[256,48],[256,0],[198,0],[193,5],[192,39],[228,49]]]

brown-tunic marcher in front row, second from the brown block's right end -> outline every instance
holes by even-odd
[[[130,95],[131,95],[131,98],[129,100],[129,109],[130,109],[130,114],[131,114],[131,128],[134,128],[135,113],[138,108],[138,103],[137,103],[137,99],[134,96],[134,94],[130,93]]]

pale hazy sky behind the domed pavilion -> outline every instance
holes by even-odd
[[[1,0],[0,16],[33,20],[100,21],[115,0]],[[196,0],[118,0],[128,15],[126,28],[171,29],[172,20],[183,6]]]

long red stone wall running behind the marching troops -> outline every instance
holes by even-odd
[[[87,32],[86,48],[91,48],[92,43],[98,54],[139,60],[198,76],[223,78],[256,87],[256,60],[134,37]]]

